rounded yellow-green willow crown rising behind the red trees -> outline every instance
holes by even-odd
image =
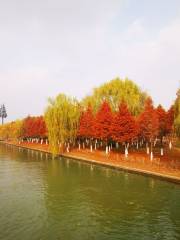
[[[95,112],[98,111],[103,101],[110,104],[112,111],[118,111],[119,103],[125,101],[129,111],[138,115],[144,108],[147,94],[143,92],[133,81],[129,79],[113,79],[95,88],[91,95],[82,100],[82,105],[91,104]]]

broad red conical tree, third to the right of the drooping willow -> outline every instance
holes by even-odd
[[[135,119],[129,112],[125,102],[119,105],[119,111],[113,118],[111,133],[113,140],[119,143],[130,142],[138,134]]]

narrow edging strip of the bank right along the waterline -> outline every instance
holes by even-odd
[[[28,145],[28,146],[23,145],[23,143],[16,144],[16,143],[12,143],[12,142],[4,142],[4,141],[1,141],[1,143],[10,145],[10,146],[24,148],[24,149],[30,149],[30,150],[35,150],[35,151],[39,151],[39,152],[44,152],[44,153],[48,153],[48,154],[52,155],[52,153],[49,150],[43,149],[42,146],[40,148],[38,148],[38,144],[36,147],[33,147],[31,145]],[[125,166],[123,164],[113,163],[112,161],[107,162],[105,157],[104,157],[104,159],[105,159],[104,161],[100,161],[98,159],[96,160],[96,159],[89,158],[89,157],[78,156],[78,154],[73,153],[73,152],[58,154],[58,156],[73,159],[76,161],[81,161],[81,162],[84,162],[87,164],[94,164],[94,165],[98,165],[98,166],[102,166],[102,167],[106,167],[106,168],[116,169],[118,171],[126,171],[126,172],[130,172],[133,174],[139,174],[139,175],[143,175],[143,176],[153,177],[153,178],[157,178],[160,180],[180,184],[180,177],[178,177],[178,176],[164,174],[164,173],[160,173],[160,172],[156,172],[156,171],[150,171],[147,169],[142,169],[142,168],[133,167],[133,166]],[[124,160],[124,161],[128,161],[128,160]]]

